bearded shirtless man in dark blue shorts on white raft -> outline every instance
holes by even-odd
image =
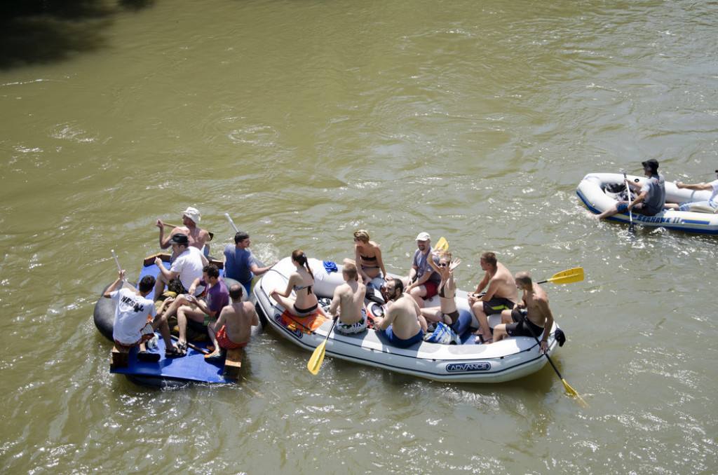
[[[389,343],[399,348],[411,347],[412,344],[421,342],[426,331],[426,320],[421,316],[416,300],[409,293],[404,293],[401,279],[386,281],[381,288],[381,294],[387,307],[383,318],[374,319],[377,331],[383,334]]]

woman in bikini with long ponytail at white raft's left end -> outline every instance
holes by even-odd
[[[307,256],[302,250],[297,249],[292,253],[292,264],[297,266],[297,271],[292,272],[289,276],[286,290],[281,292],[279,288],[275,288],[269,296],[294,316],[309,316],[316,314],[317,311],[324,314],[317,301],[317,296],[312,291],[314,273],[309,268]],[[294,291],[295,297],[290,297],[292,291]]]

